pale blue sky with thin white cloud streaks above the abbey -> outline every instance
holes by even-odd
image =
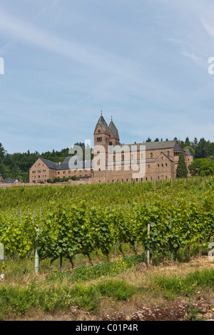
[[[213,16],[213,0],[0,0],[0,143],[93,146],[101,110],[124,144],[214,141]]]

